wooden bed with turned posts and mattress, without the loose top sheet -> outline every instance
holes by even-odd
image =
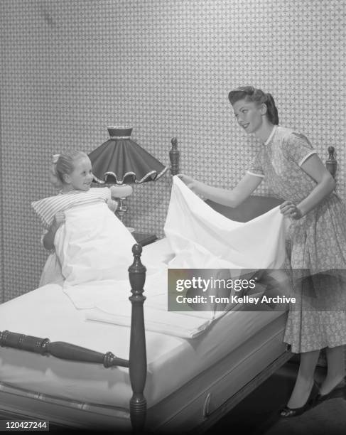
[[[253,196],[235,209],[209,205],[246,222],[279,203]],[[165,238],[143,249],[171,257]],[[0,306],[1,415],[59,428],[204,431],[291,358],[285,311],[234,307],[191,339],[144,331],[141,251],[134,245],[129,267],[131,328],[85,322],[58,284]]]

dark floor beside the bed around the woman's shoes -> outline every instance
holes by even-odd
[[[206,434],[345,435],[346,401],[340,398],[299,417],[279,419],[279,409],[288,401],[297,371],[297,362],[286,363]],[[325,367],[317,367],[315,379],[319,382],[324,375]]]

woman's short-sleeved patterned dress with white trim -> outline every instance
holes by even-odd
[[[308,139],[274,127],[249,173],[266,179],[283,200],[298,204],[316,186],[301,165],[315,154]],[[346,344],[346,208],[335,192],[299,220],[287,246],[293,295],[284,341],[294,353]]]

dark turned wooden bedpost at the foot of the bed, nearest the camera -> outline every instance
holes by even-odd
[[[132,247],[134,262],[129,267],[132,293],[129,297],[132,304],[129,373],[133,392],[130,400],[130,417],[135,432],[143,431],[146,421],[146,398],[143,394],[146,384],[146,334],[143,312],[146,300],[143,296],[146,267],[141,264],[141,252],[141,245],[136,244]]]

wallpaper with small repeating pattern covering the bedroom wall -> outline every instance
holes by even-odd
[[[345,1],[2,0],[0,21],[5,300],[38,285],[30,203],[54,193],[50,154],[92,151],[107,125],[130,124],[163,163],[176,136],[182,172],[232,187],[259,146],[232,115],[237,85],[271,92],[281,125],[323,160],[335,146],[346,199]],[[127,224],[162,236],[170,188],[168,175],[136,186]]]

